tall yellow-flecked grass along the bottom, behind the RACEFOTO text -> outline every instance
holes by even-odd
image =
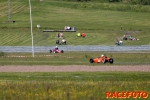
[[[2,100],[105,100],[108,91],[149,92],[149,82],[124,81],[1,82],[0,87]],[[130,97],[128,100],[133,98]]]

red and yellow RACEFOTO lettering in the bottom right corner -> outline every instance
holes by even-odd
[[[148,98],[148,92],[146,91],[114,91],[114,92],[106,92],[106,98],[141,98],[146,99]]]

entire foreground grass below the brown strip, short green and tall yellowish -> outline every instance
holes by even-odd
[[[0,76],[1,99],[105,100],[108,91],[150,91],[150,74],[143,72],[0,73]]]

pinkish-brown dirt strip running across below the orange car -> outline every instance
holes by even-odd
[[[0,72],[106,72],[106,71],[136,71],[150,72],[150,65],[135,66],[0,66]]]

